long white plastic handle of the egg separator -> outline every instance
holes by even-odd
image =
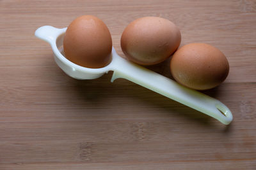
[[[232,113],[227,106],[212,97],[202,94],[196,90],[188,89],[176,81],[170,80],[165,76],[157,74],[154,71],[150,71],[145,67],[138,66],[137,64],[120,57],[115,60],[114,66],[114,73],[111,79],[112,82],[116,78],[125,78],[195,110],[201,111],[206,115],[216,118],[225,125],[230,124],[232,121]]]

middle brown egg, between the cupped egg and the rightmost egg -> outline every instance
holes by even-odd
[[[141,65],[158,64],[172,55],[180,45],[178,27],[159,17],[143,17],[129,24],[121,38],[127,59]]]

